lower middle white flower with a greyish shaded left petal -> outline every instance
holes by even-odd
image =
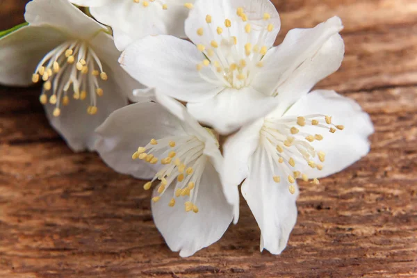
[[[222,155],[213,131],[174,99],[157,99],[163,106],[142,101],[112,113],[97,129],[96,148],[117,172],[152,179],[144,188],[154,186],[156,227],[171,250],[191,256],[229,227],[234,209],[224,194],[237,188],[222,187]]]

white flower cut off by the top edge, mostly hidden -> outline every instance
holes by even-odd
[[[194,0],[70,0],[90,7],[99,22],[111,26],[116,47],[125,49],[147,35],[184,37],[184,20]]]

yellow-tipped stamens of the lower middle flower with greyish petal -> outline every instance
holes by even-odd
[[[132,155],[133,160],[141,159],[150,164],[161,163],[161,169],[152,181],[145,183],[145,190],[158,180],[159,196],[153,197],[158,202],[167,188],[175,186],[169,205],[174,206],[176,199],[182,199],[186,211],[198,212],[195,205],[199,182],[207,162],[203,154],[204,142],[195,136],[174,136],[152,139],[145,147],[139,147]],[[163,157],[161,160],[158,157]]]

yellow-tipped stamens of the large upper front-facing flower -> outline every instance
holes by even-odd
[[[225,87],[240,89],[250,85],[263,67],[261,60],[268,51],[265,37],[274,25],[268,24],[268,13],[263,15],[265,24],[256,25],[247,22],[243,8],[238,8],[236,15],[233,22],[226,18],[221,26],[215,26],[211,15],[206,15],[206,26],[197,29],[201,37],[197,49],[206,59],[197,64],[197,71],[208,82],[218,83],[208,77],[214,74]]]

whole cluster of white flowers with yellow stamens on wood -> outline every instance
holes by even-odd
[[[368,114],[311,91],[341,66],[338,17],[277,47],[270,0],[33,0],[25,19],[0,38],[0,83],[42,83],[74,151],[147,179],[156,227],[181,256],[238,222],[240,184],[261,251],[280,254],[297,180],[320,183],[369,151]]]

